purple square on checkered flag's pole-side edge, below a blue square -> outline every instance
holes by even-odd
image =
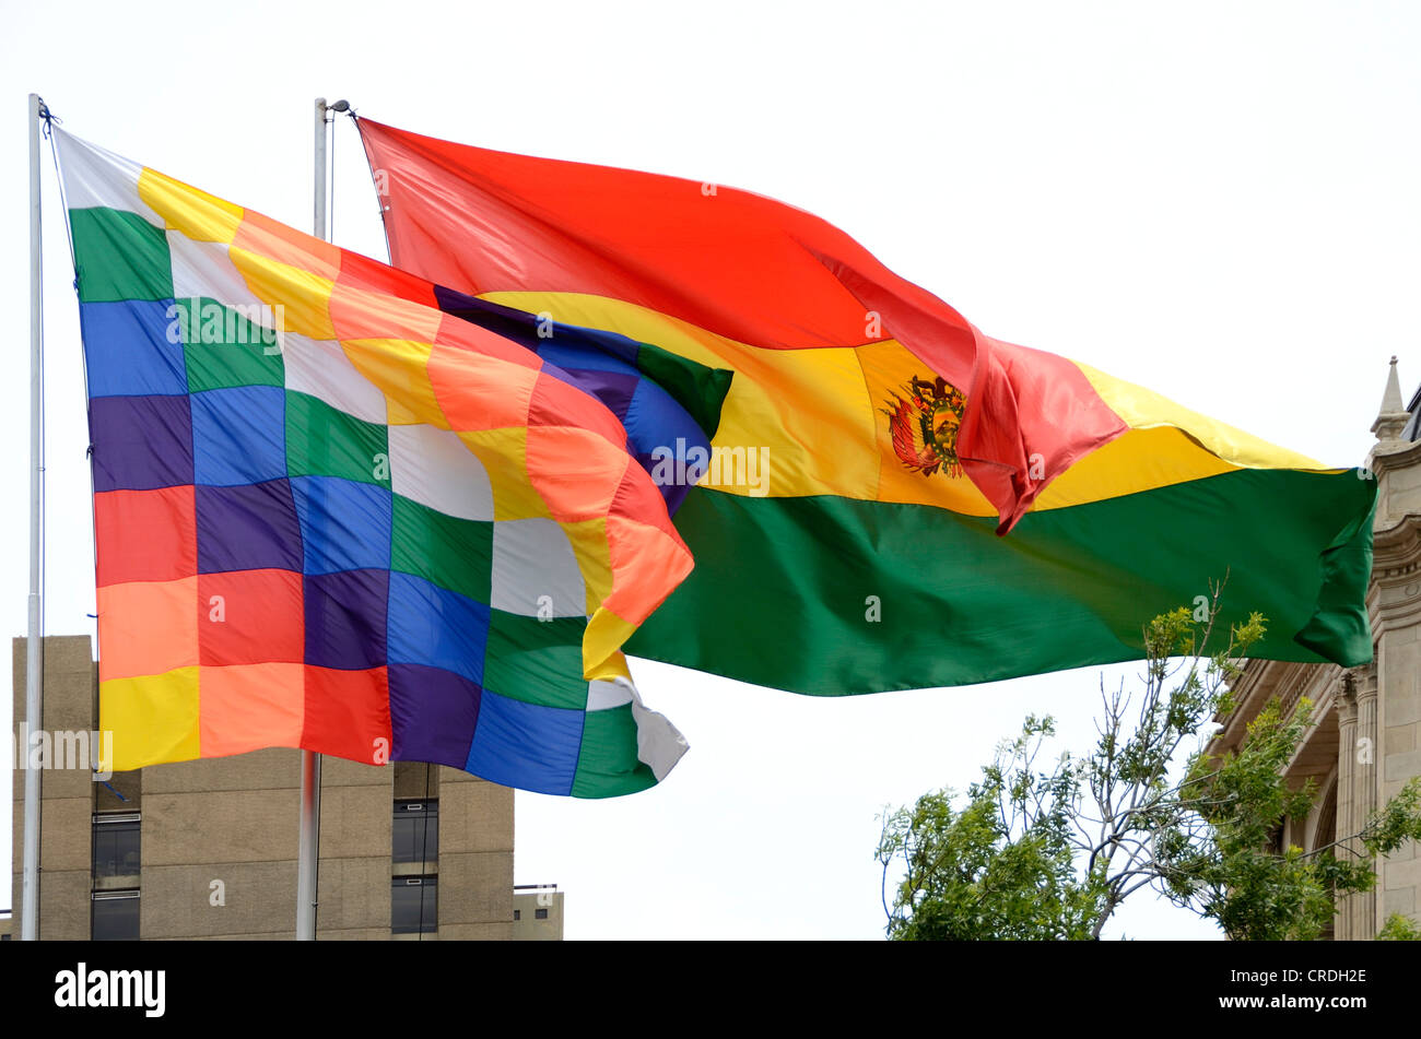
[[[90,400],[95,491],[152,491],[192,480],[188,396]]]

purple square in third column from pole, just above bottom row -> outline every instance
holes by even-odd
[[[306,663],[357,671],[385,664],[389,571],[308,573]]]

